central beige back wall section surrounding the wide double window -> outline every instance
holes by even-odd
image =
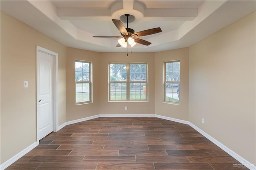
[[[108,102],[109,62],[148,63],[148,102]],[[101,53],[99,69],[100,114],[154,114],[154,53]]]

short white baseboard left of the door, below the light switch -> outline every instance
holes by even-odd
[[[24,156],[25,154],[27,154],[30,150],[34,149],[37,146],[37,143],[34,142],[33,144],[31,144],[30,146],[28,146],[27,148],[23,149],[22,151],[20,151],[18,154],[14,155],[12,158],[10,158],[9,160],[7,160],[6,162],[4,162],[3,164],[0,165],[0,169],[4,170],[5,168],[7,168],[8,166],[10,166],[11,164],[13,164],[15,161],[17,161],[18,159],[20,159],[22,156]]]

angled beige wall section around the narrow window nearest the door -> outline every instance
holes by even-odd
[[[75,60],[92,62],[92,89],[93,103],[76,105],[76,84],[75,84]],[[66,52],[66,111],[67,121],[73,121],[99,114],[99,76],[100,76],[100,53],[67,47]]]

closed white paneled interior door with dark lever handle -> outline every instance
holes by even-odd
[[[37,53],[38,140],[53,131],[53,56]]]

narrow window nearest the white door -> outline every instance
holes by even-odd
[[[92,102],[91,62],[76,60],[76,104]]]

